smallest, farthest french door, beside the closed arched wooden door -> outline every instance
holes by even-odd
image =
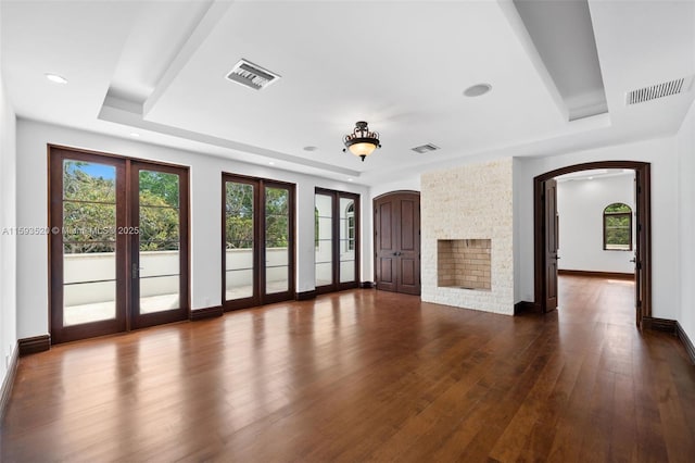
[[[359,275],[359,195],[316,188],[314,243],[316,291],[356,288]]]

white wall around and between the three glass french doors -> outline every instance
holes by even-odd
[[[191,309],[222,303],[222,172],[270,178],[296,184],[296,291],[314,288],[314,188],[323,187],[368,197],[366,187],[308,175],[274,170],[137,142],[129,139],[59,127],[34,121],[17,123],[17,225],[47,226],[47,143],[64,145],[125,157],[190,166],[191,196]],[[363,209],[369,212],[370,208]],[[368,217],[368,216],[367,216]],[[370,220],[362,220],[363,224]],[[363,227],[362,249],[371,255],[370,232]],[[365,239],[369,237],[369,239]],[[20,338],[47,334],[48,326],[48,242],[45,236],[23,236],[17,240],[17,335]],[[371,279],[363,267],[362,279]]]

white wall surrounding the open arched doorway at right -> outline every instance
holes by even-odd
[[[652,164],[653,313],[675,320],[679,314],[679,165],[675,137],[578,151],[551,158],[518,159],[515,167],[515,210],[518,214],[519,260],[515,274],[516,302],[533,301],[533,178],[556,168],[592,161],[642,161]],[[692,283],[690,283],[692,285]]]

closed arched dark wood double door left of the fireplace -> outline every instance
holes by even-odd
[[[420,195],[387,193],[375,199],[377,289],[420,293]]]

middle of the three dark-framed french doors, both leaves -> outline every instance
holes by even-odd
[[[224,309],[294,298],[294,185],[223,174]]]

